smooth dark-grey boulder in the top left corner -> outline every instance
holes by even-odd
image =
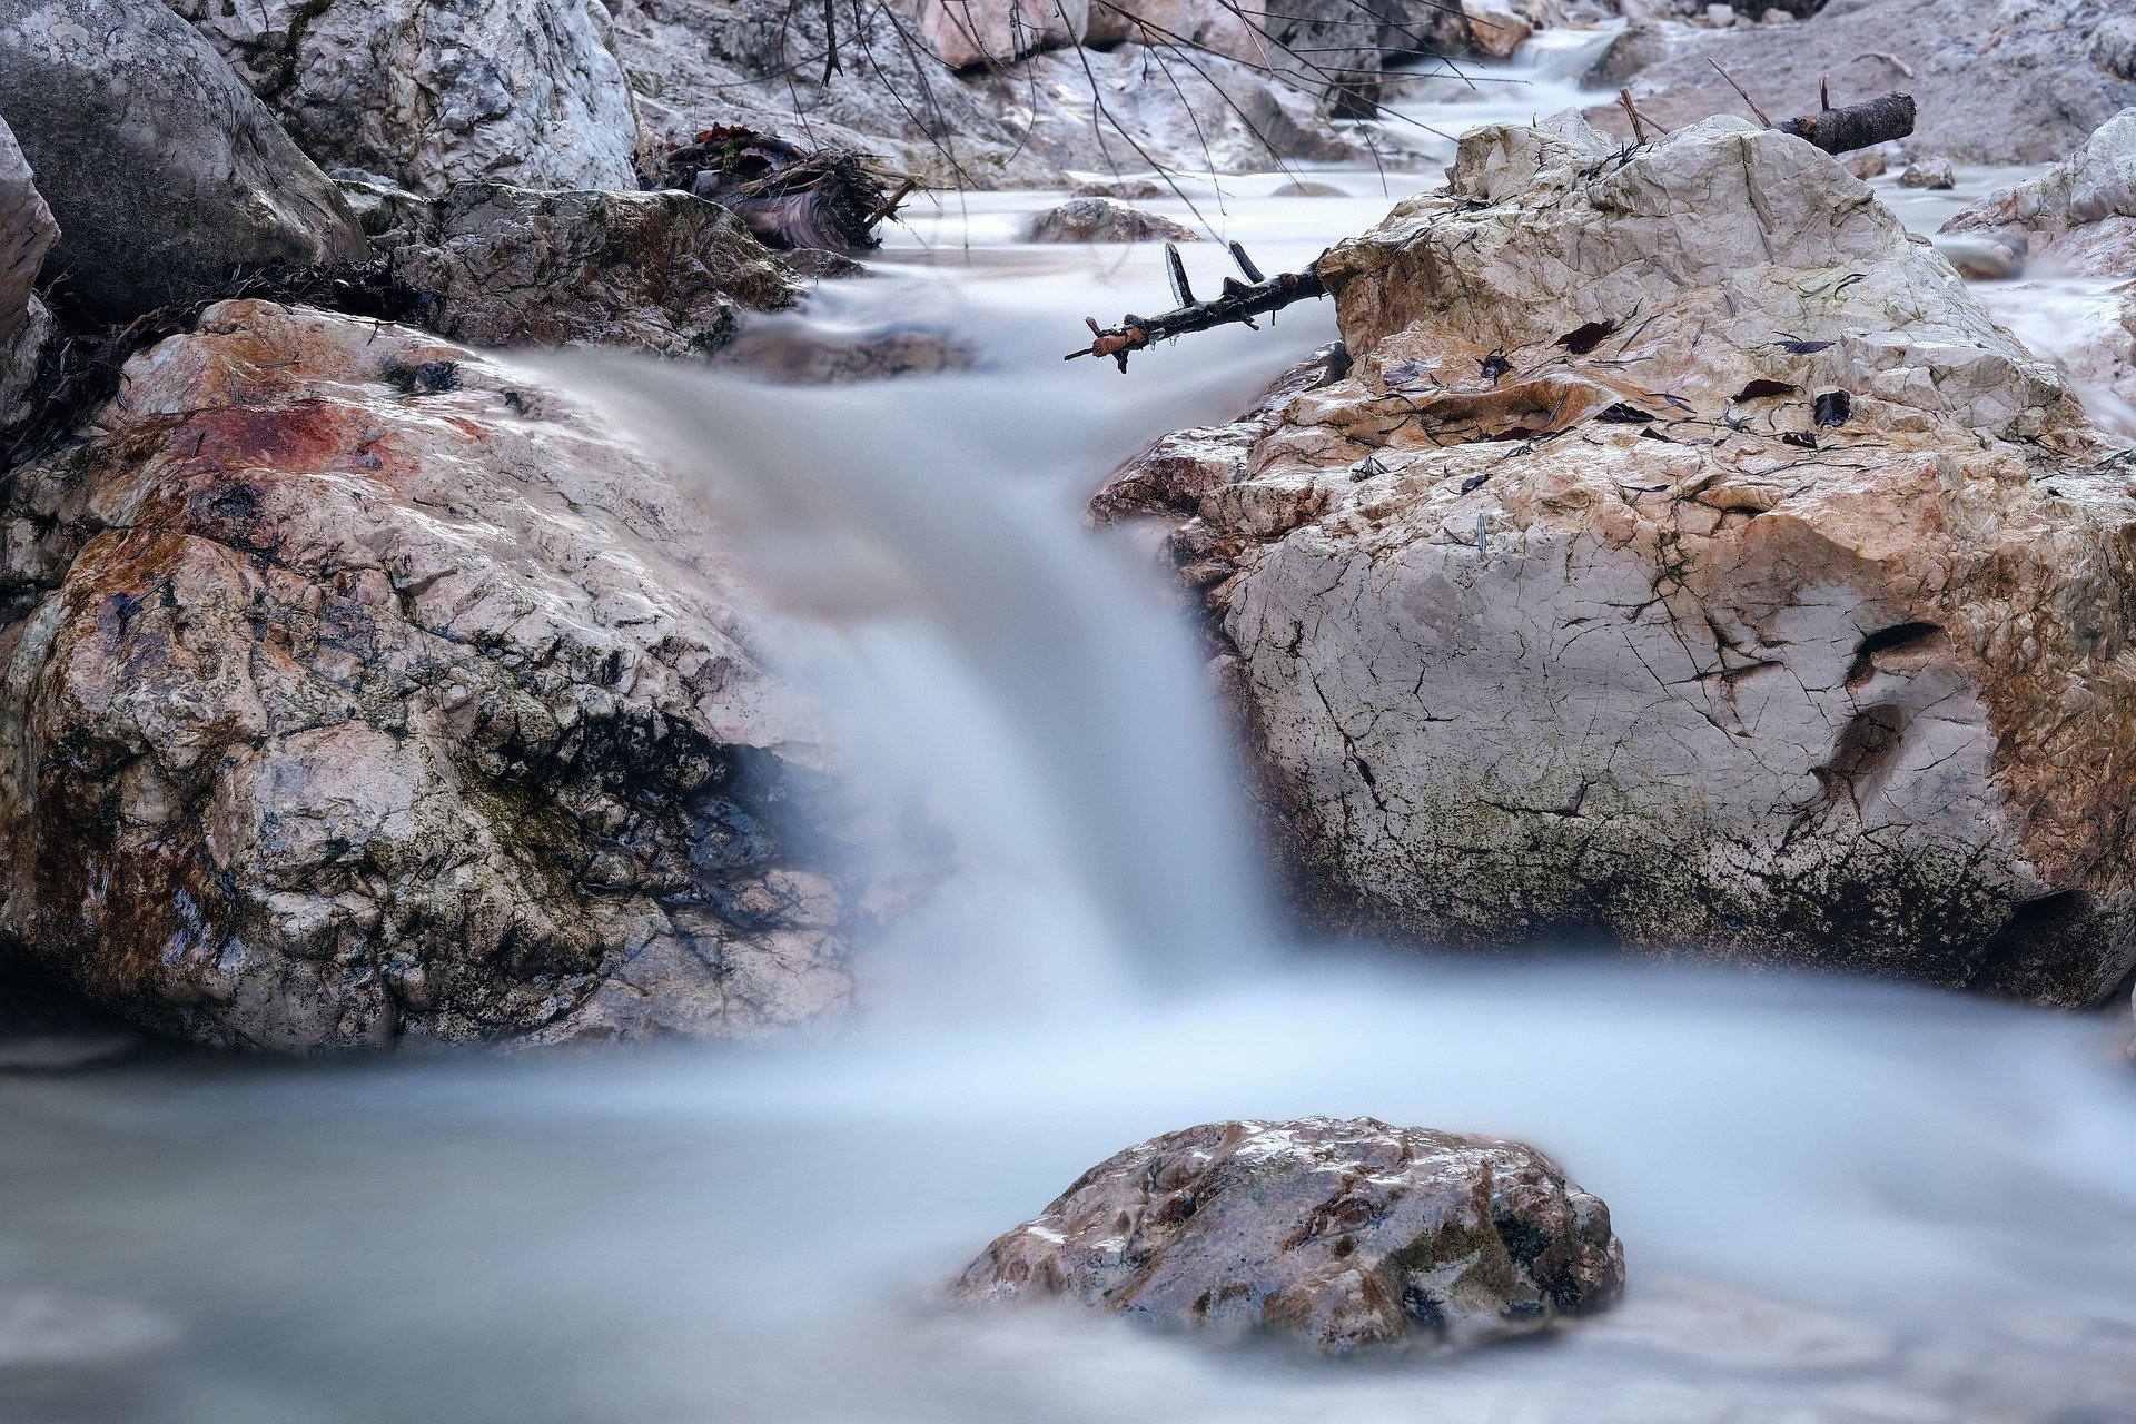
[[[0,0],[0,120],[60,222],[45,286],[98,320],[365,256],[333,184],[158,0]]]

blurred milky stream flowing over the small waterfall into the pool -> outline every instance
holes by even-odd
[[[1553,113],[1591,102],[1581,68],[1551,38],[1401,109],[1442,132]],[[1271,196],[1292,177],[1179,175],[1185,196],[1147,207],[1277,271],[1438,175],[1316,169],[1348,196]],[[1880,190],[1933,231],[2012,177]],[[871,280],[780,318],[946,331],[980,352],[970,374],[551,365],[705,482],[839,745],[948,828],[951,884],[861,950],[861,1020],[765,1046],[0,1074],[0,1289],[77,1322],[58,1364],[0,1330],[0,1420],[2136,1420],[2125,1023],[1284,927],[1192,630],[1079,506],[1145,440],[1235,414],[1333,314],[1126,378],[1064,363],[1085,316],[1171,299],[1158,248],[1023,243],[1057,201],[914,205]],[[1226,265],[1215,243],[1185,258],[1207,286]],[[2104,310],[2080,284],[1982,295],[2040,342]],[[1553,1153],[1613,1208],[1623,1304],[1467,1358],[1326,1364],[940,1300],[1109,1153],[1312,1112]]]

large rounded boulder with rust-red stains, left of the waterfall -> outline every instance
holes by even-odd
[[[0,969],[284,1050],[844,1008],[844,781],[637,446],[258,301],[124,391],[6,485]]]

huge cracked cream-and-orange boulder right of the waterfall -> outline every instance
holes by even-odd
[[[2121,982],[2136,500],[1865,184],[1487,128],[1320,273],[1354,369],[1175,547],[1329,916]]]

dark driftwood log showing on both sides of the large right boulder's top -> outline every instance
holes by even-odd
[[[1719,66],[1715,66],[1719,68]],[[1722,79],[1728,79],[1722,70]],[[1734,85],[1734,79],[1728,79]],[[1741,94],[1743,90],[1737,88]],[[1749,102],[1749,96],[1743,96]],[[1636,139],[1645,143],[1645,124],[1640,124],[1638,109],[1632,107],[1630,94],[1623,94],[1625,113],[1632,117]],[[1758,122],[1766,128],[1777,128],[1796,139],[1807,139],[1816,143],[1826,154],[1848,154],[1858,147],[1871,147],[1875,143],[1890,143],[1892,139],[1903,139],[1914,132],[1914,96],[1912,94],[1880,94],[1878,98],[1848,105],[1843,109],[1824,107],[1818,113],[1799,120],[1786,120],[1784,124],[1766,122],[1764,113],[1752,105],[1758,113]],[[1100,327],[1096,316],[1085,316],[1091,342],[1081,350],[1072,350],[1064,361],[1074,361],[1077,357],[1111,357],[1119,363],[1119,369],[1128,369],[1128,354],[1151,346],[1153,342],[1164,342],[1175,335],[1188,335],[1190,331],[1209,331],[1211,327],[1224,327],[1230,322],[1243,322],[1256,327],[1256,316],[1273,316],[1294,301],[1309,301],[1314,297],[1326,297],[1329,288],[1320,282],[1320,271],[1316,263],[1309,263],[1305,271],[1279,271],[1273,278],[1260,275],[1254,260],[1245,256],[1245,248],[1230,243],[1230,256],[1239,263],[1239,271],[1245,273],[1245,282],[1237,278],[1224,278],[1224,290],[1209,301],[1196,301],[1194,290],[1188,286],[1185,265],[1179,260],[1179,248],[1164,243],[1164,267],[1173,280],[1173,299],[1179,303],[1171,312],[1160,316],[1134,316],[1128,314],[1119,318],[1117,327]],[[1258,329],[1258,327],[1256,327]]]

